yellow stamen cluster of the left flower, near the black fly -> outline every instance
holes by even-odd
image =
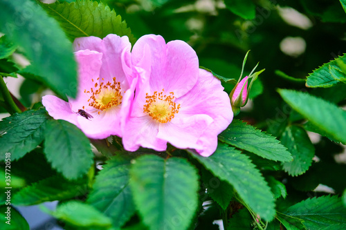
[[[91,81],[93,82],[93,79]],[[113,84],[111,82],[95,83],[95,88],[91,88],[89,91],[84,90],[84,93],[91,93],[88,99],[89,106],[100,110],[98,114],[113,106],[118,106],[122,100],[120,82],[116,82],[115,77],[113,77]]]

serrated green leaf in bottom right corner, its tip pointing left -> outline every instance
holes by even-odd
[[[346,224],[346,207],[336,195],[303,200],[284,214],[304,220],[307,229],[334,229],[338,224]]]

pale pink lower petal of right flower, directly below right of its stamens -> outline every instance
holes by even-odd
[[[199,148],[197,141],[212,122],[212,118],[204,114],[174,117],[171,122],[159,126],[157,137],[177,148]]]

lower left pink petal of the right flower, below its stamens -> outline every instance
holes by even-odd
[[[136,151],[140,146],[152,148],[156,151],[165,151],[167,141],[158,139],[158,123],[148,115],[130,117],[123,133],[122,144],[127,151]]]

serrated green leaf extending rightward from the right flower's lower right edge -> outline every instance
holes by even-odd
[[[269,160],[280,162],[292,160],[289,151],[275,137],[238,119],[233,119],[230,126],[219,135],[219,140]]]

